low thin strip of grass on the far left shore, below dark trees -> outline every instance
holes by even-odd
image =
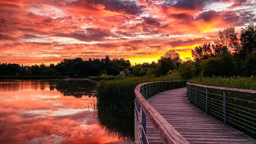
[[[0,79],[22,79],[22,80],[33,80],[33,79],[65,79],[68,76],[0,76]]]

